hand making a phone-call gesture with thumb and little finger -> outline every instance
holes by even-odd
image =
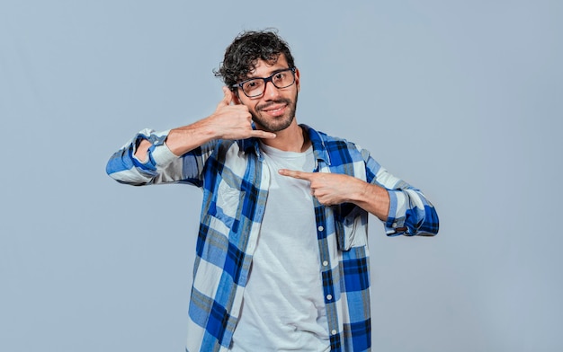
[[[246,139],[275,138],[275,134],[252,128],[252,115],[245,105],[233,105],[233,92],[227,87],[223,87],[225,96],[219,101],[217,109],[209,118],[205,119],[206,124],[216,133],[219,139]]]

